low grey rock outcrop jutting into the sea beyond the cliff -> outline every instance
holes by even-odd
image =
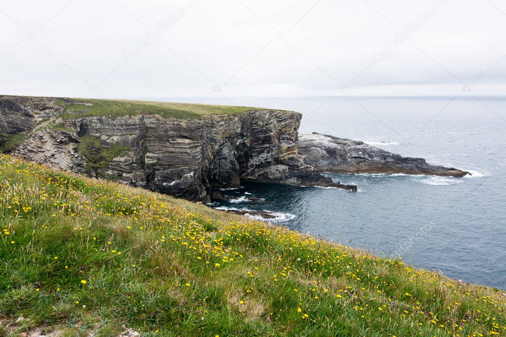
[[[462,177],[455,168],[429,165],[425,159],[407,158],[362,141],[319,134],[301,134],[298,150],[304,163],[318,171],[335,173],[405,173]]]

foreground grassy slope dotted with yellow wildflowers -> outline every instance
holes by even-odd
[[[26,318],[13,335],[506,333],[503,295],[400,261],[9,156],[0,183],[0,320]]]

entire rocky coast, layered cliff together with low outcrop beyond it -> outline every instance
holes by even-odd
[[[10,144],[12,154],[58,169],[205,203],[220,200],[218,189],[238,187],[240,181],[357,190],[324,171],[469,174],[361,141],[299,135],[302,115],[293,111],[252,108],[177,118],[150,113],[147,105],[121,115],[90,115],[98,103],[0,96],[0,146]],[[69,117],[69,108],[76,106]],[[25,138],[12,145],[20,134]]]

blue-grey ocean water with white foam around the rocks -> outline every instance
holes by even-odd
[[[179,99],[178,101],[191,101]],[[299,111],[302,133],[360,139],[464,178],[329,174],[335,188],[246,183],[222,208],[269,210],[276,223],[424,269],[506,290],[506,100],[501,98],[234,98]],[[208,99],[202,103],[227,104]],[[230,104],[230,102],[228,102]],[[263,202],[248,202],[254,195]]]

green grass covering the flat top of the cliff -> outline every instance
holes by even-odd
[[[61,117],[72,119],[88,116],[132,116],[157,114],[165,118],[196,119],[202,115],[236,114],[248,111],[251,107],[204,105],[190,103],[169,103],[129,100],[89,100],[75,99],[65,105]]]

